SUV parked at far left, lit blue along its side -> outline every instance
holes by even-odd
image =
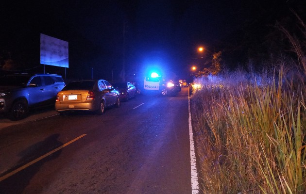
[[[11,120],[27,116],[30,108],[52,105],[65,82],[56,74],[13,74],[0,77],[0,113]]]

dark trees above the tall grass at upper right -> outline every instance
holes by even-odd
[[[283,55],[298,60],[284,29],[305,45],[305,29],[301,26],[301,21],[306,22],[305,9],[304,0],[267,1],[266,7],[246,18],[241,29],[220,41],[222,66],[230,69],[249,65],[269,67]]]

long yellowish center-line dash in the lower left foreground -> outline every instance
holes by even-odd
[[[34,164],[34,163],[36,163],[36,162],[38,162],[38,161],[41,161],[42,159],[44,159],[44,158],[50,156],[50,155],[53,154],[54,152],[56,152],[56,151],[62,149],[63,147],[68,146],[69,144],[71,144],[71,143],[77,141],[78,139],[81,139],[81,138],[84,137],[85,135],[86,135],[86,134],[83,134],[83,135],[81,135],[81,136],[79,136],[79,137],[77,137],[77,138],[71,140],[70,142],[64,144],[63,146],[59,146],[58,148],[53,149],[52,151],[50,151],[50,152],[48,152],[47,154],[45,154],[45,155],[43,155],[43,156],[41,156],[41,157],[35,159],[34,161],[29,162],[29,163],[27,163],[27,164],[25,164],[25,165],[23,165],[23,166],[17,168],[16,170],[14,170],[14,171],[12,171],[12,172],[10,172],[10,173],[8,173],[8,174],[6,174],[6,175],[0,177],[0,182],[1,182],[2,180],[6,179],[6,178],[9,178],[9,177],[15,175],[17,172],[19,172],[19,171],[21,171],[21,170],[23,170],[23,169],[25,169],[25,168],[31,166],[32,164]]]

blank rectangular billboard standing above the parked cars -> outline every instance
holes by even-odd
[[[41,33],[40,64],[68,68],[68,42]]]

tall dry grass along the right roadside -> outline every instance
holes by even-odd
[[[306,192],[304,75],[236,71],[198,78],[192,90],[205,194]]]

